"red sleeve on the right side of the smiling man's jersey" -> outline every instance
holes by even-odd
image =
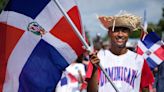
[[[143,65],[143,68],[142,68],[140,89],[148,87],[150,84],[153,84],[153,82],[154,82],[153,73],[150,70],[147,62],[144,61],[144,65]]]

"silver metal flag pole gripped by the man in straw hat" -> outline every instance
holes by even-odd
[[[53,0],[57,7],[60,9],[60,11],[62,12],[62,14],[64,15],[64,17],[66,18],[66,20],[69,22],[69,24],[72,26],[74,32],[76,33],[76,35],[79,37],[80,41],[83,43],[83,45],[85,46],[85,49],[88,50],[89,52],[91,52],[91,48],[89,47],[89,45],[87,44],[87,42],[84,40],[84,38],[82,37],[82,35],[80,34],[80,32],[78,31],[77,27],[75,26],[75,24],[72,22],[72,20],[70,19],[70,17],[68,16],[68,14],[65,12],[65,10],[63,9],[63,7],[61,6],[61,4],[59,3],[58,0]],[[101,71],[104,73],[105,77],[108,79],[108,81],[111,83],[111,85],[113,86],[113,88],[115,89],[116,92],[119,92],[118,89],[116,88],[115,84],[112,82],[112,80],[110,79],[110,77],[108,76],[107,72],[105,71],[105,69],[102,67],[102,65],[99,63],[98,66],[100,67]]]

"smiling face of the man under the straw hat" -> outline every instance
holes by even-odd
[[[125,27],[115,27],[114,32],[109,29],[109,36],[111,38],[111,45],[123,48],[129,38],[130,29]]]

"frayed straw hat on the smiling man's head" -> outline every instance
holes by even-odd
[[[99,16],[98,18],[105,28],[112,28],[113,31],[114,27],[127,27],[131,31],[141,27],[141,17],[126,11],[121,11],[115,16]]]

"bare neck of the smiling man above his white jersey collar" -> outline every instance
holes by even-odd
[[[111,46],[111,48],[109,50],[115,55],[122,55],[122,54],[125,54],[127,52],[126,47],[122,48],[122,47]]]

